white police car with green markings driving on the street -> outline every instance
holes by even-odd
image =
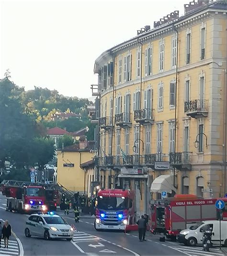
[[[46,240],[50,238],[66,239],[73,237],[73,228],[60,216],[49,212],[47,214],[32,214],[26,221],[24,230],[26,237],[41,236]]]

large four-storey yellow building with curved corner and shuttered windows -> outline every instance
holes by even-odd
[[[227,192],[227,1],[193,1],[184,11],[138,30],[94,65],[99,180],[136,189],[140,212],[163,191]]]

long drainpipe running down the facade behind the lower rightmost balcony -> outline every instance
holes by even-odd
[[[176,96],[175,96],[175,114],[174,114],[174,122],[175,122],[175,129],[174,129],[174,158],[176,157],[176,141],[177,141],[177,87],[178,87],[178,56],[179,56],[179,32],[176,29],[174,25],[172,25],[172,29],[177,33],[177,59],[176,59]],[[173,186],[177,188],[175,184],[175,173],[176,173],[176,168],[174,167],[173,169]]]

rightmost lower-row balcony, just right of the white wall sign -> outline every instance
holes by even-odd
[[[191,165],[192,152],[170,153],[170,165],[178,170],[192,170]]]

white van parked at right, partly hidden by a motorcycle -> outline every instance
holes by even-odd
[[[214,233],[211,237],[211,241],[213,244],[219,244],[219,221],[202,221],[196,223],[190,228],[182,230],[177,235],[177,240],[180,243],[190,246],[202,244],[204,231],[211,227],[213,228]],[[227,221],[221,221],[221,244],[227,246]]]

